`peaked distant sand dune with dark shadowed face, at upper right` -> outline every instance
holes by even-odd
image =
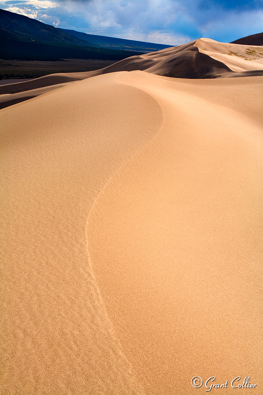
[[[144,70],[166,77],[195,79],[224,77],[230,71],[248,72],[249,75],[249,71],[257,70],[258,75],[263,75],[263,65],[258,62],[260,58],[263,58],[263,47],[198,39],[177,47],[123,59],[103,70],[104,73]],[[252,63],[252,59],[256,62]]]

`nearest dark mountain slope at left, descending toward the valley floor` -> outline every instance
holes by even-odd
[[[58,60],[62,58],[121,60],[138,52],[96,48],[36,19],[0,9],[0,58]]]

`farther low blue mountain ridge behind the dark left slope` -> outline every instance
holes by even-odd
[[[131,50],[131,51],[140,51],[140,52],[153,52],[159,51],[161,49],[169,48],[172,45],[164,45],[164,44],[154,44],[152,42],[145,41],[135,41],[135,40],[126,40],[126,39],[117,39],[114,37],[105,37],[105,36],[96,36],[93,34],[86,34],[81,32],[76,32],[75,30],[61,29],[56,28],[63,33],[67,33],[68,35],[72,35],[81,40],[88,41],[92,46],[100,47],[100,48],[113,48],[113,49],[121,49],[121,50]]]

